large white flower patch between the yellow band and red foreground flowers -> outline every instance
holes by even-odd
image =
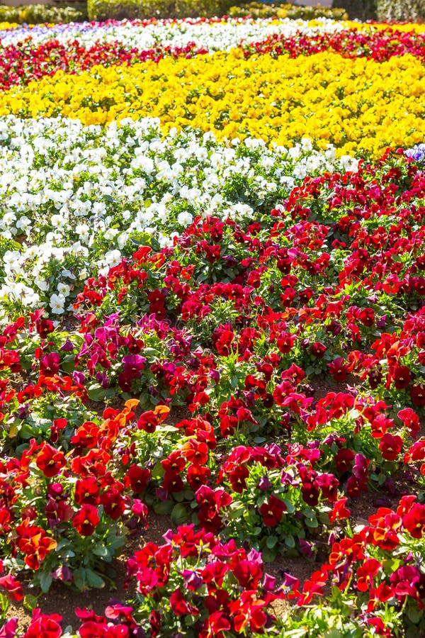
[[[167,245],[196,216],[255,218],[307,174],[357,165],[307,139],[268,150],[193,130],[164,137],[154,118],[101,127],[15,116],[0,118],[0,161],[1,308],[53,314],[138,242]]]

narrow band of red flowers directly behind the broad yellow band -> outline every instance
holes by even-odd
[[[145,27],[146,28],[146,27]],[[298,55],[313,55],[320,51],[333,50],[343,57],[370,57],[373,60],[389,60],[391,57],[400,55],[414,55],[423,58],[424,34],[394,32],[391,29],[380,33],[379,37],[375,33],[361,32],[356,29],[333,31],[331,33],[317,30],[317,33],[310,33],[309,30],[300,28],[295,35],[281,33],[280,29],[273,30],[266,40],[246,43],[256,33],[249,33],[239,44],[244,50],[244,55],[254,55],[258,53],[271,53],[272,55],[282,55],[288,52],[290,57]],[[96,33],[96,32],[95,32]],[[195,35],[196,32],[193,33]],[[89,69],[94,65],[111,66],[117,64],[132,65],[145,60],[161,60],[162,57],[171,55],[177,57],[193,57],[193,55],[205,54],[210,51],[221,49],[225,43],[214,38],[208,39],[209,48],[200,45],[200,38],[189,41],[183,45],[159,45],[157,41],[141,43],[145,47],[140,48],[137,41],[132,47],[121,40],[103,41],[84,44],[79,38],[62,42],[60,40],[47,40],[38,43],[37,38],[28,35],[23,42],[4,45],[0,60],[2,89],[9,89],[14,84],[28,84],[31,80],[39,79],[45,75],[52,75],[58,70],[66,72],[79,72]],[[99,34],[101,35],[101,34]],[[117,34],[118,36],[120,33]],[[265,35],[261,33],[261,35]],[[173,40],[171,40],[173,41]],[[231,40],[230,40],[231,41]],[[198,43],[198,44],[197,44]],[[234,45],[237,43],[235,42]]]

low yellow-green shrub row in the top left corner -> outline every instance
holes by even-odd
[[[43,24],[59,22],[81,22],[87,14],[83,4],[79,8],[71,6],[49,6],[47,4],[27,4],[26,6],[0,5],[0,22],[18,24]]]

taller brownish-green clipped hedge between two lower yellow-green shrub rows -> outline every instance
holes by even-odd
[[[87,0],[90,20],[224,16],[234,0]]]

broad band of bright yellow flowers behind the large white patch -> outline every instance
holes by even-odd
[[[378,156],[388,145],[424,138],[425,67],[415,57],[388,62],[331,52],[244,60],[240,50],[158,64],[57,72],[0,95],[0,115],[64,116],[85,124],[159,117],[164,130],[190,125],[217,138],[251,135],[278,145],[310,137],[339,154]]]

